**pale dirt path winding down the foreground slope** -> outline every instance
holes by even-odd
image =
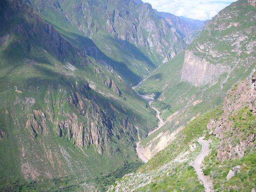
[[[200,154],[195,158],[192,166],[194,167],[195,172],[198,175],[198,179],[202,181],[205,191],[213,192],[214,190],[212,180],[210,180],[209,177],[205,176],[203,170],[201,169],[201,164],[204,160],[204,157],[209,154],[209,141],[204,140],[204,137],[200,137],[198,139],[198,142],[202,145],[202,148]]]

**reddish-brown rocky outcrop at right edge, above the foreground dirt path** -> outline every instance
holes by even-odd
[[[248,130],[243,130],[239,127],[239,123],[230,117],[238,115],[243,108],[248,108],[250,113],[242,114],[239,119],[256,115],[255,76],[256,72],[253,72],[250,78],[227,93],[223,105],[223,115],[216,122],[210,121],[207,126],[221,140],[217,154],[219,160],[243,157],[247,148],[254,147],[255,125],[250,125]]]

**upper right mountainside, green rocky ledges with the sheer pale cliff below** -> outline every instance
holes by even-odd
[[[256,21],[253,9],[255,6],[250,1],[238,1],[209,21],[186,51],[181,81],[202,86],[215,83],[226,74],[227,78],[221,80],[226,83],[239,66],[254,64],[256,40],[251,37],[255,35]],[[250,24],[245,25],[248,22]]]

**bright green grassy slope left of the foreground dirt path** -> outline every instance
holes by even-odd
[[[221,110],[216,108],[193,121],[180,131],[164,150],[158,152],[137,172],[118,180],[113,191],[204,191],[192,166],[199,154],[197,139],[209,132],[209,119],[218,119]]]

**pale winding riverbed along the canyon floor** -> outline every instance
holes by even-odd
[[[148,135],[151,135],[152,133],[154,133],[155,131],[157,131],[159,128],[161,128],[161,127],[164,125],[165,122],[163,121],[163,119],[162,119],[161,116],[160,116],[160,111],[158,111],[157,108],[154,108],[154,107],[151,105],[152,102],[154,101],[154,96],[148,96],[148,95],[139,95],[139,96],[141,96],[143,99],[145,99],[145,100],[148,101],[148,105],[149,105],[152,109],[154,109],[154,111],[156,111],[156,117],[157,117],[157,119],[159,120],[157,127],[156,127],[153,131],[151,131],[151,132],[148,133]],[[146,154],[145,154],[146,151],[145,151],[145,149],[143,148],[143,145],[141,145],[141,143],[140,143],[140,136],[139,136],[139,130],[138,130],[138,128],[137,128],[137,132],[138,132],[139,142],[136,143],[136,151],[137,151],[138,157],[139,157],[143,162],[147,163],[149,159],[147,158],[147,156],[146,156]]]

